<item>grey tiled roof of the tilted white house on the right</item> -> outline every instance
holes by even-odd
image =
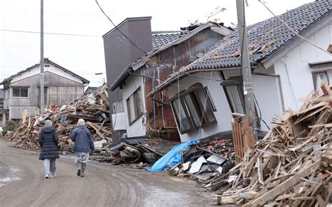
[[[303,34],[331,14],[331,10],[331,0],[314,1],[289,10],[279,17],[298,34]],[[297,38],[296,34],[293,34],[277,17],[247,27],[247,36],[251,65],[260,64]],[[185,76],[185,73],[195,73],[198,70],[239,68],[241,66],[240,53],[239,32],[235,30],[212,46],[203,57],[170,75],[165,82],[155,87],[151,94],[165,89],[178,76]]]

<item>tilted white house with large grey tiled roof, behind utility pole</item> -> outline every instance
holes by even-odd
[[[279,15],[324,51],[298,38],[276,17],[248,27],[256,113],[261,120],[269,123],[286,108],[300,108],[321,81],[331,83],[331,10],[332,1],[314,1]],[[240,66],[239,35],[234,31],[153,90],[151,94],[167,90],[181,141],[228,131],[231,113],[244,113]],[[200,78],[189,76],[193,73]],[[268,127],[261,122],[260,129]]]

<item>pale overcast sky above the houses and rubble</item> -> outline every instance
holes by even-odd
[[[265,0],[277,15],[311,1]],[[179,30],[197,19],[205,22],[217,6],[227,9],[216,16],[221,22],[226,26],[237,22],[235,0],[98,2],[115,24],[126,17],[152,16],[153,31]],[[247,24],[272,17],[258,0],[248,3]],[[95,0],[44,0],[44,32],[95,36],[45,34],[44,42],[45,57],[87,78],[91,86],[101,85],[106,77],[102,35],[112,28]],[[40,31],[40,0],[0,0],[0,29]],[[0,31],[0,81],[39,60],[39,34]]]

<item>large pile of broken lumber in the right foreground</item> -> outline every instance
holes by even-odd
[[[332,199],[331,90],[287,110],[228,173],[205,183],[218,204],[326,206]]]

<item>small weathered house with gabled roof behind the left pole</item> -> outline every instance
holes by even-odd
[[[45,105],[63,105],[81,97],[88,80],[64,67],[45,59]],[[22,119],[23,110],[27,115],[39,111],[40,64],[6,78],[4,85],[3,120]]]

